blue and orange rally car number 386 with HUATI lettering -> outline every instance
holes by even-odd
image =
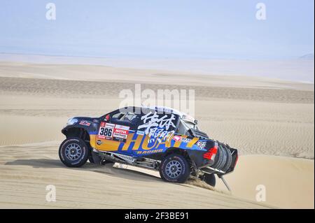
[[[195,118],[166,107],[126,107],[101,117],[73,117],[62,134],[66,139],[59,158],[66,166],[83,166],[87,160],[118,162],[160,171],[168,182],[198,178],[214,187],[215,175],[225,182],[223,175],[234,170],[238,158],[235,148],[200,131]]]

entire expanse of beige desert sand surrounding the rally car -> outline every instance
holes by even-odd
[[[130,166],[63,166],[57,150],[66,120],[118,108],[120,90],[135,83],[195,89],[201,129],[241,154],[226,176],[231,193],[220,181],[216,189],[197,181],[172,184]],[[1,208],[314,208],[314,84],[0,62],[0,101]],[[46,185],[56,186],[56,202],[45,201]],[[266,201],[256,201],[257,185],[265,185]]]

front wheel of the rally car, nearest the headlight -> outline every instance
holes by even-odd
[[[89,157],[89,148],[81,138],[69,137],[59,147],[59,158],[69,167],[83,166]]]

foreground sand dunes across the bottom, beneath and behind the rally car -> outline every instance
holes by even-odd
[[[216,189],[195,180],[166,183],[132,166],[66,168],[57,143],[0,147],[1,208],[314,208],[313,160],[240,157],[226,176],[230,193],[221,181]],[[46,185],[57,188],[56,202],[45,201]],[[265,202],[255,202],[257,185],[266,187]]]

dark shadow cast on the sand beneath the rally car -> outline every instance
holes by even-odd
[[[70,168],[64,166],[64,164],[62,164],[59,159],[16,159],[15,161],[6,162],[5,165],[31,166],[33,168],[67,168],[74,171],[92,171],[94,173],[116,175],[119,178],[130,180],[134,180],[135,178],[137,178],[137,180],[142,181],[162,181],[161,178],[158,178],[155,175],[134,171],[128,168],[117,168],[113,167],[111,164],[98,165],[87,162],[84,166],[81,166],[80,168]]]

